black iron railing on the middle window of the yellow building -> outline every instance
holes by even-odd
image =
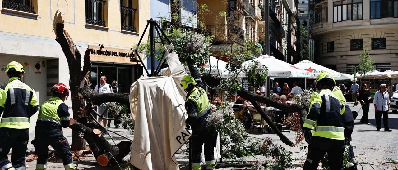
[[[105,0],[86,0],[86,23],[105,27]]]

